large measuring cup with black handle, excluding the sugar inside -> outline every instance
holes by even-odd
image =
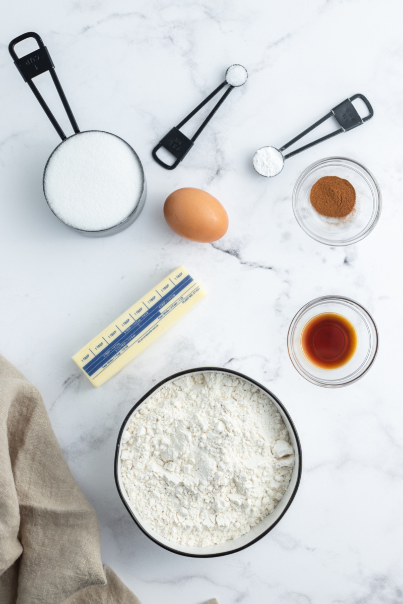
[[[33,38],[34,40],[36,40],[39,48],[37,48],[37,50],[34,50],[31,53],[26,54],[23,57],[18,57],[14,50],[15,45],[18,42],[22,42],[22,40],[26,40],[28,38]],[[110,132],[103,132],[103,130],[85,130],[83,132],[80,132],[80,129],[77,126],[76,119],[74,118],[73,112],[71,111],[71,108],[68,104],[66,96],[63,92],[62,86],[60,85],[59,79],[56,76],[54,64],[53,64],[53,61],[47,50],[47,47],[45,47],[44,43],[42,42],[42,39],[40,38],[40,36],[37,33],[34,33],[33,31],[29,31],[28,33],[22,34],[21,36],[18,36],[15,39],[11,40],[10,44],[8,45],[8,51],[10,52],[10,55],[11,55],[12,59],[14,60],[18,71],[21,73],[21,76],[24,78],[24,81],[27,82],[31,91],[33,92],[33,94],[35,95],[37,100],[39,101],[40,106],[42,107],[42,109],[44,109],[45,114],[48,116],[49,120],[51,121],[51,124],[53,124],[54,129],[56,129],[56,132],[59,134],[59,137],[62,139],[62,143],[60,143],[56,147],[56,149],[54,149],[53,152],[51,153],[50,158],[48,159],[47,164],[45,165],[45,170],[44,170],[44,178],[43,178],[44,195],[45,195],[45,199],[46,199],[47,204],[50,207],[51,211],[66,226],[69,226],[69,228],[73,229],[74,231],[77,231],[77,233],[82,233],[83,235],[86,235],[86,236],[103,237],[103,236],[113,235],[115,233],[120,233],[120,231],[123,231],[125,228],[127,228],[127,226],[131,225],[131,223],[137,219],[141,210],[143,209],[144,202],[146,201],[146,194],[147,194],[146,178],[144,176],[143,165],[141,164],[140,158],[138,158],[137,153],[135,152],[134,149],[132,149],[132,147],[128,143],[126,143],[126,141],[124,141],[122,138],[117,137],[116,135],[114,135]],[[48,107],[44,98],[42,97],[42,95],[40,94],[40,92],[38,91],[38,89],[36,88],[34,83],[32,82],[34,77],[39,76],[40,74],[42,74],[46,71],[50,72],[54,85],[56,86],[57,94],[59,94],[60,100],[63,103],[63,107],[65,108],[69,122],[71,123],[71,126],[73,127],[74,134],[71,135],[70,137],[66,137],[65,133],[63,132],[62,128],[60,127],[60,124],[57,122],[53,113],[50,111],[50,108]],[[89,230],[89,229],[83,230],[80,228],[76,228],[76,226],[73,226],[73,225],[69,224],[68,222],[66,222],[65,220],[63,220],[62,217],[58,216],[56,211],[54,211],[54,209],[51,207],[50,200],[48,199],[47,192],[45,190],[45,181],[47,178],[47,171],[48,171],[48,167],[50,165],[51,159],[54,156],[54,153],[56,153],[56,152],[64,153],[65,150],[67,149],[67,147],[69,146],[69,144],[71,144],[71,141],[73,141],[76,137],[82,137],[91,132],[94,132],[94,133],[102,132],[103,134],[106,134],[109,137],[114,137],[120,141],[123,141],[123,143],[126,144],[127,147],[133,153],[133,156],[135,158],[135,163],[136,163],[137,167],[140,169],[140,173],[141,173],[141,178],[140,178],[141,190],[140,190],[140,194],[138,195],[138,198],[135,199],[134,209],[123,220],[120,220],[118,223],[112,225],[111,227],[103,228],[100,230]]]

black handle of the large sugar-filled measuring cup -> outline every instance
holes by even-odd
[[[23,57],[18,57],[15,51],[15,45],[19,42],[22,42],[22,40],[27,40],[28,38],[33,38],[36,41],[38,48],[31,53],[25,54]],[[21,36],[15,37],[13,40],[11,40],[10,44],[8,45],[8,52],[10,53],[16,68],[21,73],[21,76],[24,78],[24,82],[27,82],[31,91],[37,98],[37,101],[39,101],[40,106],[42,107],[42,109],[44,109],[45,114],[47,114],[49,120],[51,121],[51,124],[53,124],[54,129],[63,141],[66,138],[65,133],[63,132],[53,113],[50,111],[50,108],[45,102],[44,97],[42,97],[39,90],[32,82],[32,79],[34,77],[40,76],[40,74],[43,74],[46,71],[50,72],[54,85],[56,86],[57,94],[59,94],[60,100],[63,103],[63,107],[65,108],[71,126],[73,127],[73,130],[74,132],[76,132],[76,134],[79,133],[79,126],[77,126],[77,122],[68,104],[66,95],[63,92],[62,86],[60,85],[59,78],[56,76],[53,61],[50,57],[47,47],[45,47],[44,42],[42,42],[42,38],[39,36],[39,34],[35,33],[34,31],[28,31],[25,34],[21,34]]]

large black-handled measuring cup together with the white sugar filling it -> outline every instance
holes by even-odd
[[[39,48],[19,59],[14,47],[30,37]],[[62,139],[44,171],[44,193],[50,209],[66,225],[85,235],[96,237],[122,231],[134,222],[146,201],[146,179],[137,153],[126,141],[109,132],[80,132],[38,34],[28,32],[16,37],[8,50]],[[45,71],[51,74],[75,132],[71,137],[66,137],[32,82]]]

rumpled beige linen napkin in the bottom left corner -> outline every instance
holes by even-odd
[[[42,397],[0,355],[0,603],[62,602],[140,604],[102,565],[97,515]]]

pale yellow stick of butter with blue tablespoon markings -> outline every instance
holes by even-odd
[[[72,357],[95,388],[121,371],[206,295],[184,266],[168,275]]]

